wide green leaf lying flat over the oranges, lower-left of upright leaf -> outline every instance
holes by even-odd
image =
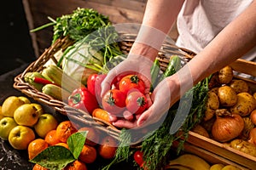
[[[75,160],[70,150],[63,146],[54,145],[49,146],[30,161],[32,163],[38,163],[48,169],[61,170],[66,167],[68,163]]]

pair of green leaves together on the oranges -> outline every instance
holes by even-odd
[[[69,150],[59,145],[49,146],[30,161],[38,163],[42,167],[61,170],[66,167],[68,163],[78,159],[83,149],[87,133],[88,131],[73,133],[67,139]]]

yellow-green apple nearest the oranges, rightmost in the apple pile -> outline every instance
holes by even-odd
[[[55,116],[44,113],[39,116],[38,122],[34,125],[34,129],[38,136],[44,138],[49,131],[54,130],[58,126]]]

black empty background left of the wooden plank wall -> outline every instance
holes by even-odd
[[[21,0],[9,0],[0,10],[0,74],[35,60],[32,39]]]

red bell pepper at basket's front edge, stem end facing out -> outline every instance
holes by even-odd
[[[73,90],[73,93],[68,98],[68,105],[88,112],[90,115],[92,114],[92,111],[98,108],[95,95],[90,94],[90,91],[87,88],[77,88]]]

